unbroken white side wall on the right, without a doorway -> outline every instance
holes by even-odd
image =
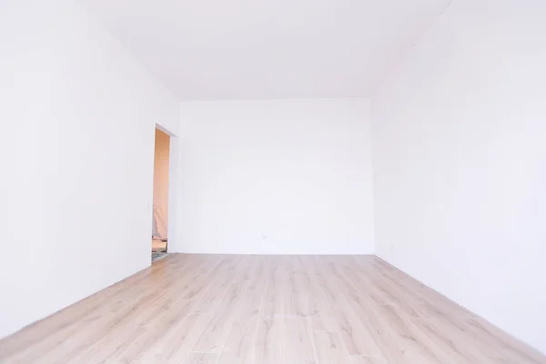
[[[372,100],[379,257],[544,352],[545,18],[453,0]]]

